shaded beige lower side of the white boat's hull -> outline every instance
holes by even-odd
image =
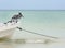
[[[0,32],[0,38],[11,38],[15,28]]]

